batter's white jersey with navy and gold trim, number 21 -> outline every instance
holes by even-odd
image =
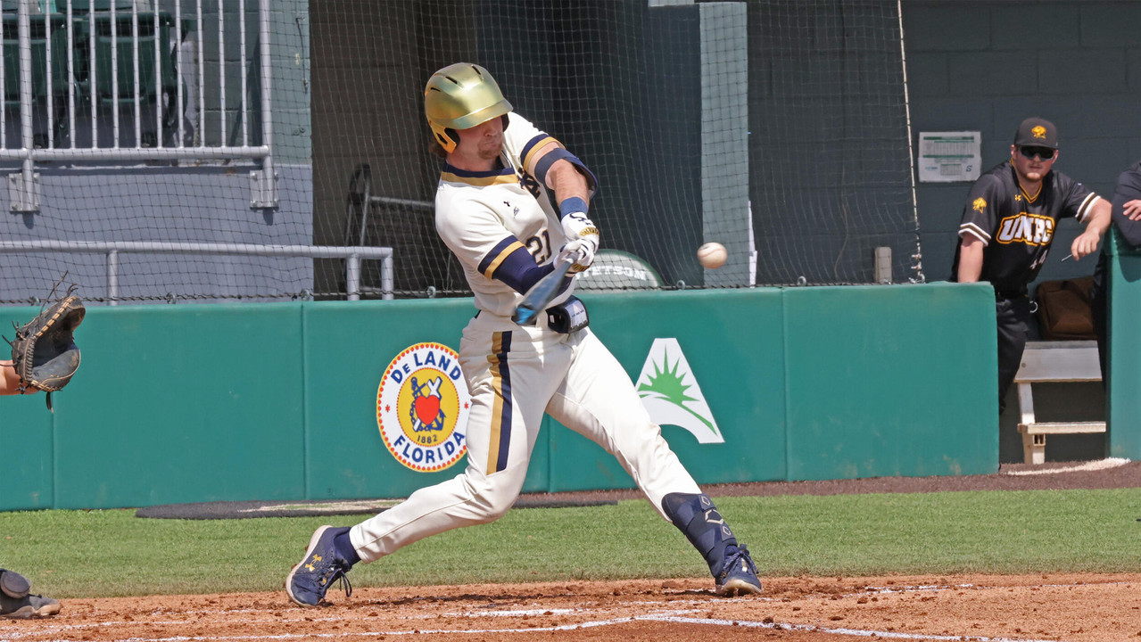
[[[547,187],[524,171],[524,155],[540,151],[555,139],[526,119],[508,114],[503,130],[503,166],[469,172],[445,165],[436,190],[436,230],[463,263],[463,274],[476,296],[476,307],[510,317],[523,295],[492,278],[495,268],[520,245],[535,262],[551,261],[566,244],[559,214]],[[574,283],[551,304],[565,301]]]

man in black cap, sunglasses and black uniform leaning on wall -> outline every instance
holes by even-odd
[[[1058,130],[1042,119],[1026,119],[1014,133],[1010,161],[986,172],[971,187],[958,226],[952,281],[987,281],[995,289],[998,318],[998,412],[1026,348],[1034,281],[1050,253],[1058,221],[1075,217],[1085,225],[1070,245],[1081,259],[1098,250],[1109,228],[1109,202],[1081,182],[1052,171]]]

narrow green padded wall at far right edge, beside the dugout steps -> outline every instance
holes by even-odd
[[[1109,417],[1107,455],[1141,458],[1141,251],[1112,228],[1109,253]]]

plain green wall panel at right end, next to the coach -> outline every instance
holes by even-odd
[[[790,479],[997,470],[989,286],[784,293]]]

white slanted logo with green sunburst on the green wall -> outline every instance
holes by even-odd
[[[725,444],[677,339],[654,340],[634,387],[654,423],[683,428],[698,444]]]

